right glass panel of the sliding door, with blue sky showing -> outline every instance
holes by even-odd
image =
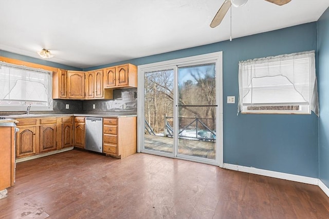
[[[178,68],[178,154],[216,159],[215,64]]]

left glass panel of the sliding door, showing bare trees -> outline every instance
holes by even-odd
[[[173,154],[174,70],[144,73],[144,149]]]

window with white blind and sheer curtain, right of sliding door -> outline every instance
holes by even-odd
[[[257,58],[239,63],[242,113],[319,115],[315,52]]]

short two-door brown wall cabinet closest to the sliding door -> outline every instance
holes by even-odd
[[[106,68],[104,88],[137,87],[137,66],[125,64]]]

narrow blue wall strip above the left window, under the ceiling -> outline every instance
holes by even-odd
[[[16,54],[16,53],[12,53],[12,52],[7,52],[7,51],[4,51],[4,50],[0,50],[0,56],[7,57],[7,58],[14,58],[14,59],[18,59],[18,60],[21,60],[21,61],[24,61],[24,62],[29,62],[29,63],[35,63],[35,64],[40,64],[40,65],[45,65],[45,66],[51,66],[51,67],[54,67],[54,68],[61,68],[61,69],[75,70],[75,71],[81,71],[82,70],[80,68],[67,66],[67,65],[62,65],[62,64],[58,64],[58,63],[53,63],[53,62],[46,61],[44,59],[33,58],[33,57],[25,56],[25,55],[20,55],[20,54]]]

